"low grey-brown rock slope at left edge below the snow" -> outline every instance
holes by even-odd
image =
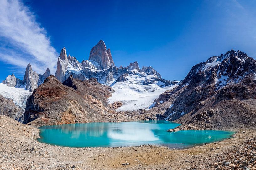
[[[0,95],[0,115],[5,115],[19,122],[23,121],[22,109],[13,103],[13,100]]]

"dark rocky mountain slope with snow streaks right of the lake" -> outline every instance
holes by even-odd
[[[182,123],[178,129],[218,129],[256,125],[256,61],[241,51],[212,56],[192,67],[182,83],[161,94],[158,119]]]

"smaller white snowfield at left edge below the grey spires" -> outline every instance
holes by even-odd
[[[24,88],[8,87],[6,84],[0,83],[0,94],[5,98],[12,99],[17,106],[25,109],[27,99],[32,95],[32,92]]]

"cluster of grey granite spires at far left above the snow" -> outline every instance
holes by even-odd
[[[43,75],[40,75],[33,71],[31,65],[28,64],[23,80],[16,78],[15,75],[12,74],[6,77],[3,84],[7,84],[9,87],[17,88],[25,86],[26,90],[33,92],[33,90],[42,84],[49,75],[51,75],[49,68],[46,69]]]

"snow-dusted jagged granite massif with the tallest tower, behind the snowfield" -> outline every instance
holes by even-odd
[[[139,69],[137,61],[130,63],[127,67],[116,67],[110,49],[107,49],[104,41],[100,40],[92,47],[89,60],[83,60],[81,63],[77,61],[75,57],[67,56],[64,47],[58,58],[55,77],[60,80],[60,82],[65,81],[70,75],[80,80],[96,78],[99,83],[113,85],[112,83],[120,76],[128,74],[134,69],[138,69],[139,72],[153,75],[162,80],[161,75],[152,67],[143,66],[142,69]],[[166,80],[162,81],[166,82]],[[170,84],[170,82],[168,84]]]

